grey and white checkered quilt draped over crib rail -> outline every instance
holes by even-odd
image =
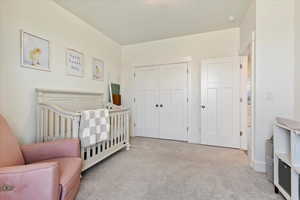
[[[81,113],[79,136],[82,147],[89,147],[109,139],[109,111],[87,110]]]

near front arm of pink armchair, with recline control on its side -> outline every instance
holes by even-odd
[[[57,200],[59,169],[55,162],[0,168],[0,199]]]

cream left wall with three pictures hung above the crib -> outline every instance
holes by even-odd
[[[106,77],[120,78],[121,47],[49,0],[1,0],[0,112],[24,143],[35,138],[35,88],[106,92],[92,80],[92,57],[105,61]],[[51,41],[52,72],[20,67],[20,29]],[[85,54],[85,77],[66,76],[65,49]],[[6,85],[3,85],[3,83]]]

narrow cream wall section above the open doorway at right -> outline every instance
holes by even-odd
[[[240,24],[240,50],[243,53],[252,40],[252,32],[256,29],[256,0],[252,0]]]

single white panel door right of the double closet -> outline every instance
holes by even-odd
[[[240,148],[239,57],[202,62],[201,140]]]

